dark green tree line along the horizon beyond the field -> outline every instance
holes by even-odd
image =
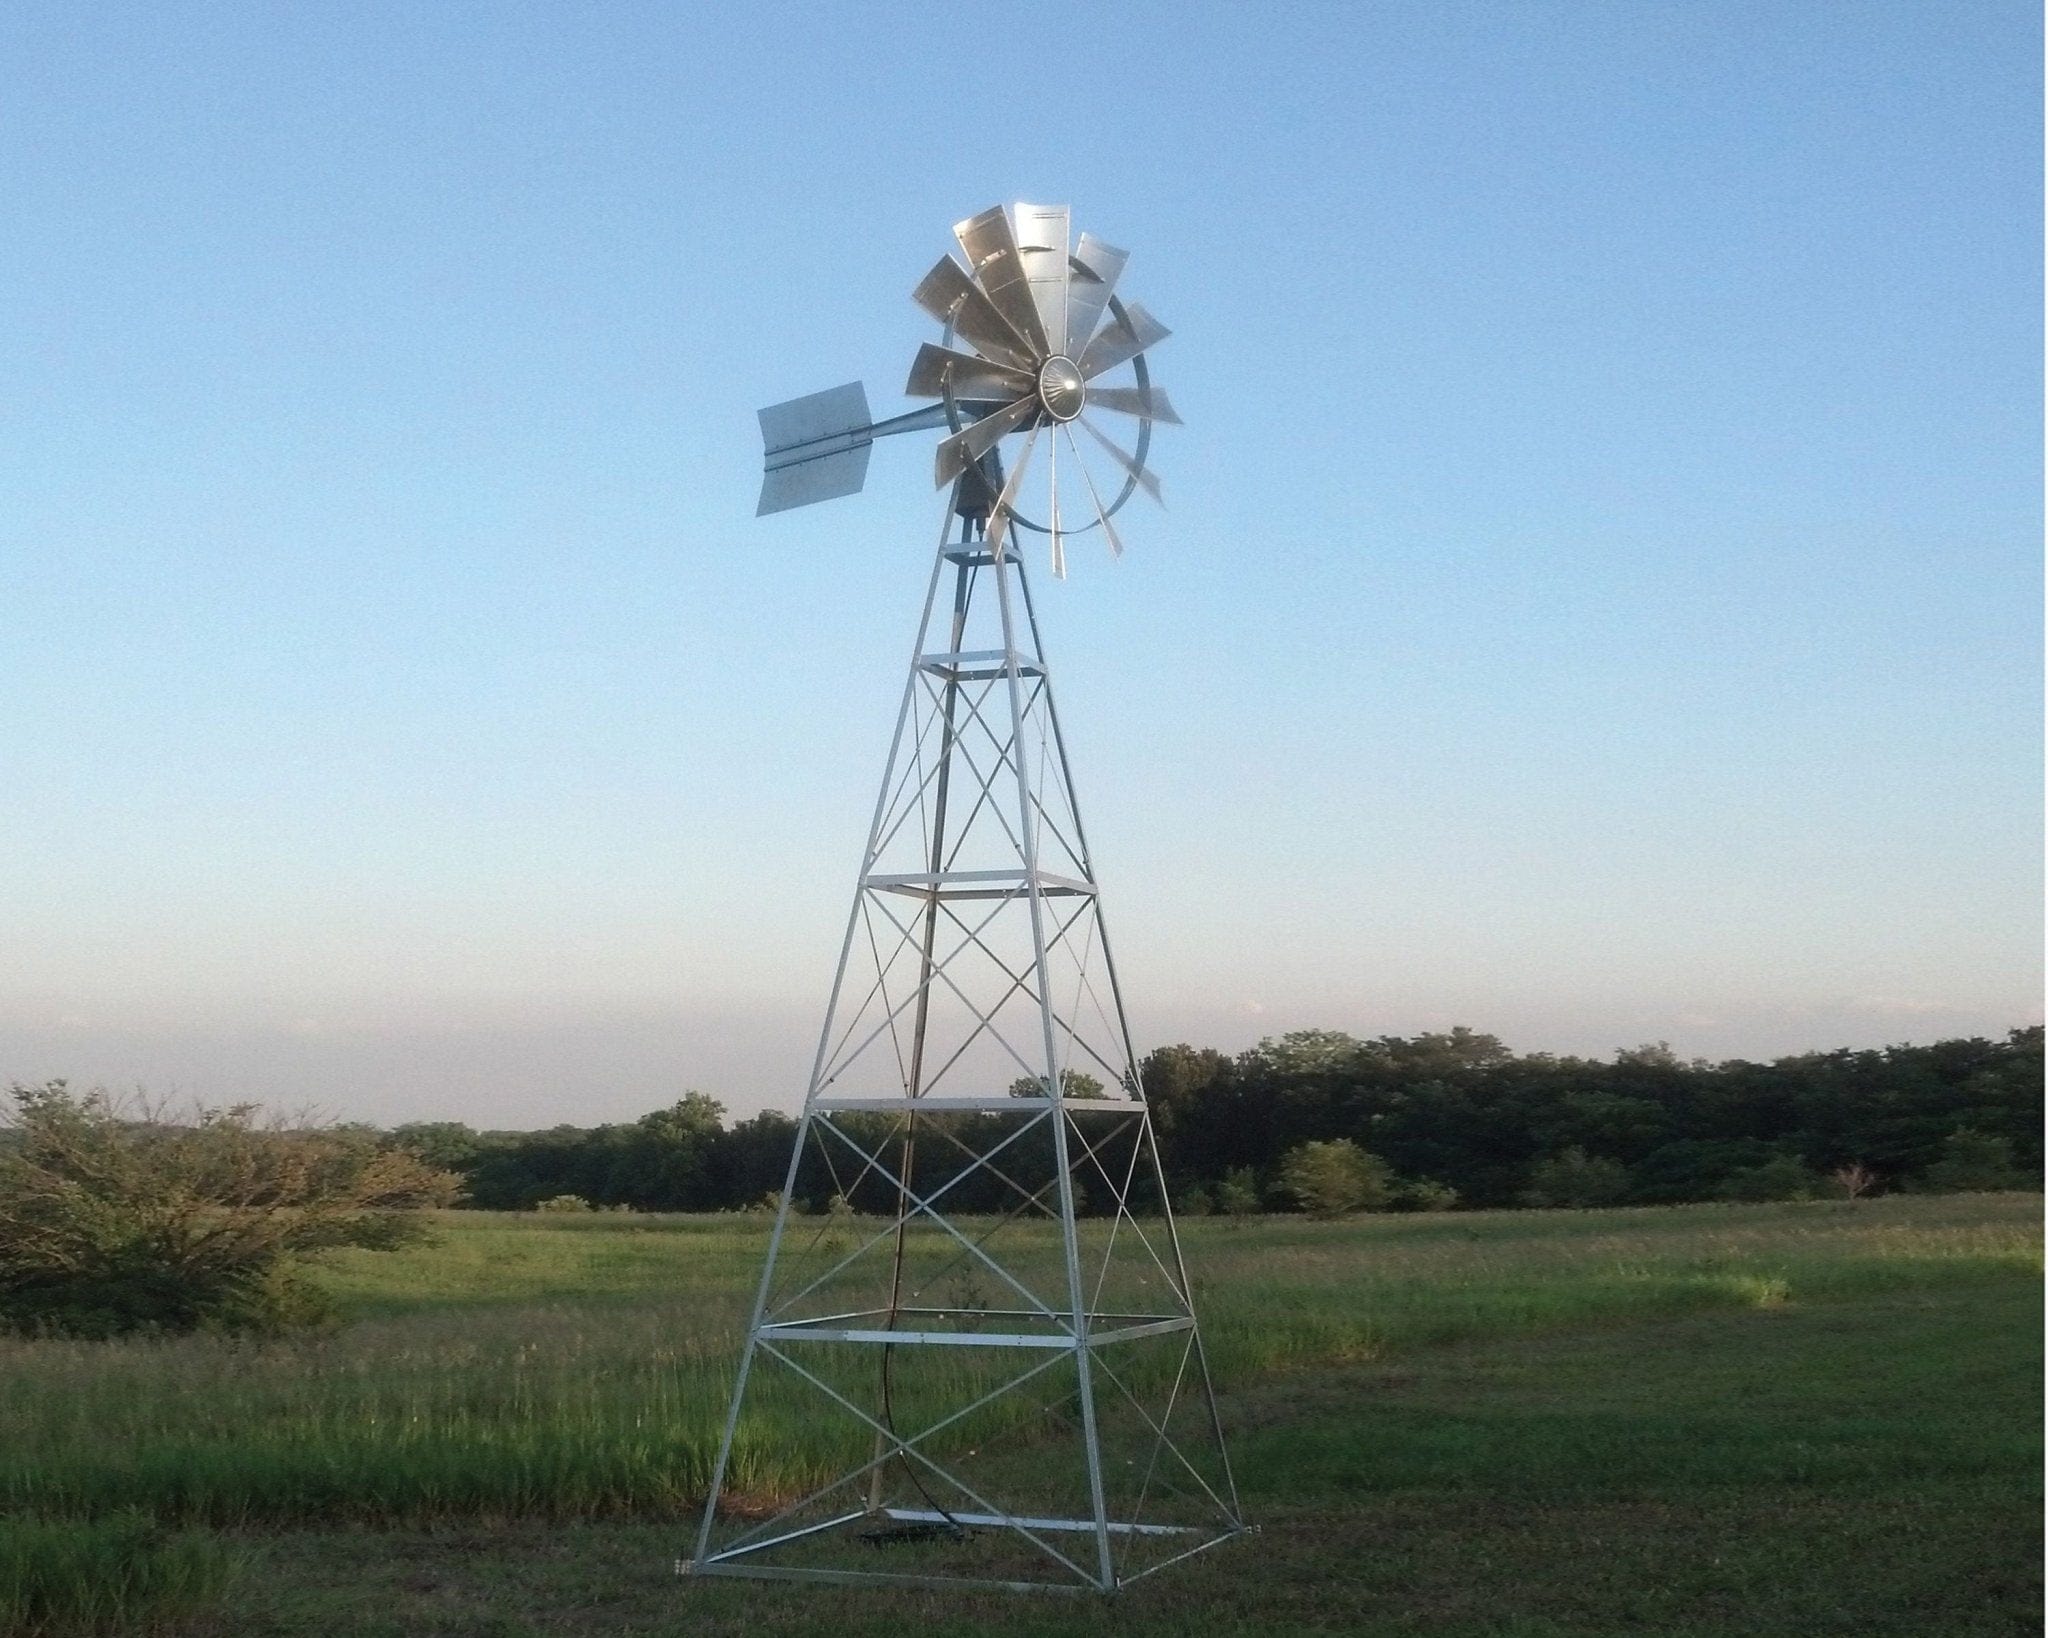
[[[2040,1188],[2042,1171],[2040,1026],[1772,1063],[1688,1061],[1663,1044],[1612,1061],[1511,1052],[1464,1028],[1370,1040],[1305,1030],[1235,1057],[1161,1046],[1141,1077],[1174,1204],[1192,1212],[1790,1200]],[[975,1118],[928,1122],[948,1134],[920,1149],[918,1173],[950,1175],[981,1140]],[[887,1132],[874,1118],[868,1138]],[[778,1112],[727,1124],[692,1091],[621,1124],[416,1122],[381,1143],[457,1173],[473,1208],[707,1212],[782,1190],[795,1134]],[[844,1186],[813,1165],[797,1198],[825,1210]],[[950,1196],[956,1210],[981,1204],[977,1188],[999,1198],[999,1183],[971,1179]],[[872,1177],[866,1194],[842,1206],[893,1208]]]

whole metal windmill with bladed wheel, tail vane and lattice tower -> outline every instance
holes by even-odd
[[[1178,418],[1124,252],[1044,205],[954,235],[967,266],[915,289],[930,407],[877,424],[854,383],[760,414],[762,512],[922,428],[950,498],[688,1568],[1112,1591],[1243,1521],[1018,530],[1055,575],[1069,536],[1120,551]],[[821,1456],[788,1493],[762,1458],[793,1448]]]

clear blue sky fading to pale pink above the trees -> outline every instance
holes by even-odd
[[[793,1106],[952,221],[1176,334],[1044,598],[1145,1044],[2040,1018],[2040,20],[10,6],[0,1079]]]

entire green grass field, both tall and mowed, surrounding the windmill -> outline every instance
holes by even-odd
[[[0,1566],[147,1527],[129,1609],[328,1638],[2040,1630],[2038,1196],[1196,1220],[1262,1534],[1108,1611],[672,1579],[764,1233],[451,1214],[332,1337],[0,1343]]]

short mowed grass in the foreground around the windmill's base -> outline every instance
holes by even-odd
[[[2017,1276],[1636,1319],[1229,1392],[1260,1534],[1114,1601],[676,1581],[688,1521],[635,1519],[252,1536],[225,1615],[254,1638],[2017,1638],[2038,1380]]]

